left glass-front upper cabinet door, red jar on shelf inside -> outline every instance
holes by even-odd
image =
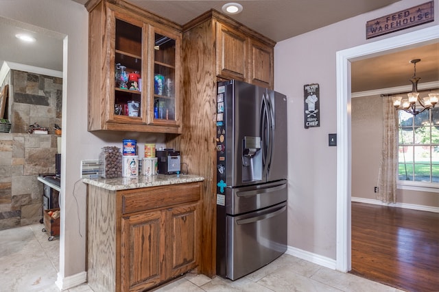
[[[140,21],[115,18],[115,59],[110,64],[110,70],[114,72],[114,79],[110,81],[114,88],[110,120],[115,122],[147,122],[147,98],[142,78],[146,74],[143,70],[145,31],[147,29]]]

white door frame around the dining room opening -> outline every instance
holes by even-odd
[[[439,41],[439,25],[337,51],[337,260],[351,270],[351,62]]]

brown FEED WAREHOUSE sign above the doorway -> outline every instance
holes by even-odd
[[[434,21],[434,1],[401,10],[366,23],[366,39]]]

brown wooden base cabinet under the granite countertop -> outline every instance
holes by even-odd
[[[90,287],[145,291],[197,267],[198,200],[200,183],[127,191],[89,185]]]

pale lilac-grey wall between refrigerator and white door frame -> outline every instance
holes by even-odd
[[[336,259],[337,150],[328,146],[328,134],[337,130],[336,52],[438,26],[438,0],[435,0],[433,23],[366,40],[367,21],[421,3],[425,0],[402,0],[276,44],[275,90],[286,94],[289,101],[288,245],[293,248]],[[304,129],[303,85],[308,83],[320,84],[321,124],[318,128]]]

